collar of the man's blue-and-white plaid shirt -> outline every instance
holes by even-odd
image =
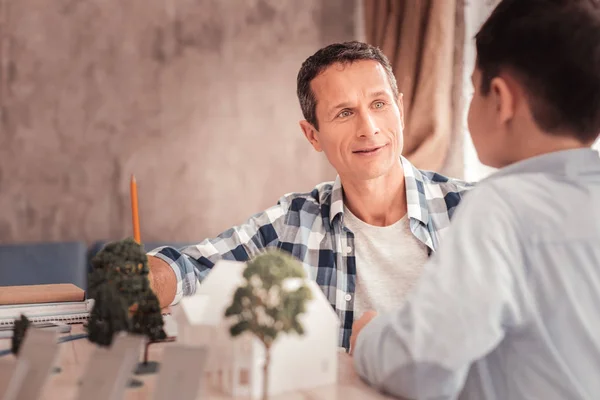
[[[400,156],[402,161],[402,169],[404,171],[404,185],[406,191],[406,205],[408,209],[408,217],[416,219],[423,224],[429,223],[429,208],[425,197],[425,183],[423,174],[406,158]],[[329,212],[329,221],[333,224],[334,219],[340,215],[343,218],[344,214],[344,195],[342,181],[340,176],[336,176],[333,182],[331,193],[331,208]]]

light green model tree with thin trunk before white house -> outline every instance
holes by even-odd
[[[298,317],[305,312],[311,292],[303,283],[300,262],[281,251],[270,250],[249,261],[243,276],[245,282],[235,291],[225,316],[233,320],[232,336],[250,332],[264,345],[262,390],[267,399],[273,343],[280,333],[304,334]]]

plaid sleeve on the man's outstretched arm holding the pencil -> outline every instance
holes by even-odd
[[[253,215],[243,224],[215,238],[181,249],[165,246],[149,251],[149,256],[169,264],[177,277],[177,291],[171,304],[177,304],[183,296],[194,294],[197,283],[202,282],[217,261],[247,261],[262,249],[276,246],[287,209],[288,205],[282,199],[276,206]]]

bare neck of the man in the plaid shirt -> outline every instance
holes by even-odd
[[[398,160],[390,171],[375,179],[355,180],[341,177],[344,204],[361,221],[388,226],[406,215],[404,170]]]

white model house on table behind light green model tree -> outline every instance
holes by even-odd
[[[244,283],[245,266],[219,261],[196,294],[174,307],[173,315],[178,342],[208,347],[207,371],[220,377],[225,393],[257,399],[262,393],[264,347],[249,333],[232,338],[232,322],[224,317],[235,290]],[[319,286],[311,280],[304,283],[312,292],[300,316],[305,332],[302,336],[281,333],[271,347],[269,395],[337,381],[339,319]]]

